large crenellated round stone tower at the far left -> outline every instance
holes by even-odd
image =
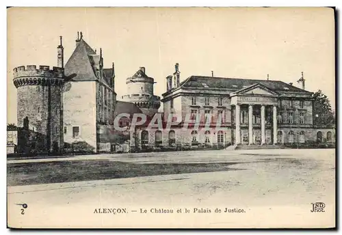
[[[61,153],[64,68],[19,66],[13,72],[17,88],[18,152]]]

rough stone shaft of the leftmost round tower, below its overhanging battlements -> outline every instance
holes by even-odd
[[[24,128],[28,120],[29,133],[39,133],[44,138],[31,135],[18,142],[18,152],[25,152],[22,146],[36,148],[35,152],[62,152],[62,87],[55,85],[23,85],[17,87],[17,124]],[[25,140],[28,138],[27,140]],[[29,141],[30,143],[25,143]],[[26,148],[27,149],[27,148]]]

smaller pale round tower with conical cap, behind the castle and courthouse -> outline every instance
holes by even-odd
[[[146,75],[144,67],[140,67],[132,77],[126,80],[127,95],[122,100],[133,102],[146,115],[154,115],[160,107],[160,97],[153,94],[155,80]]]

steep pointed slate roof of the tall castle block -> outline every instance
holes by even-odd
[[[94,58],[92,55],[96,55],[95,51],[87,44],[83,39],[79,40],[79,44],[76,46],[75,51],[68,59],[65,65],[66,77],[71,74],[76,74],[73,77],[73,81],[98,81],[96,73],[94,71]],[[99,57],[99,56],[98,56]],[[102,79],[104,83],[108,83],[107,79]]]

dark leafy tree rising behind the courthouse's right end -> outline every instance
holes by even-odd
[[[330,100],[319,89],[318,92],[313,94],[314,102],[314,123],[318,125],[335,124],[335,115],[332,111]]]

